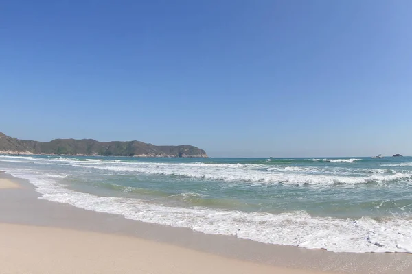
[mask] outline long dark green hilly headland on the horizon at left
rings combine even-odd
[[[135,157],[207,157],[190,145],[155,146],[145,142],[98,142],[93,139],[19,140],[0,132],[0,154],[101,155]]]

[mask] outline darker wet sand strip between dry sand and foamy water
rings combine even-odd
[[[167,227],[124,219],[123,216],[93,212],[37,199],[29,182],[0,173],[21,188],[0,190],[0,223],[55,227],[59,229],[93,232],[106,236],[127,236],[194,252],[214,254],[227,260],[251,262],[288,271],[305,270],[334,273],[410,273],[412,256],[406,253],[332,253],[299,247],[268,245],[235,236],[221,236],[194,232],[191,229]],[[7,192],[7,193],[5,193]],[[69,233],[69,232],[67,232]],[[396,267],[395,267],[396,266]],[[371,271],[373,269],[373,271]],[[391,271],[388,272],[388,270]],[[260,273],[260,272],[259,272]],[[276,273],[276,272],[275,272]],[[286,273],[286,272],[280,272]],[[292,272],[293,273],[293,272]],[[299,273],[299,272],[297,272]]]

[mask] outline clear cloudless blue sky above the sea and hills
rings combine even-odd
[[[0,131],[412,155],[412,1],[1,1]]]

